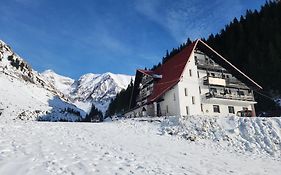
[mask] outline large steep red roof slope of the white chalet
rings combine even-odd
[[[162,66],[153,71],[154,74],[162,75],[162,78],[155,82],[153,92],[149,96],[148,101],[153,102],[157,100],[179,82],[185,65],[197,42],[195,41],[189,44],[181,52],[174,55],[173,58],[167,60]]]

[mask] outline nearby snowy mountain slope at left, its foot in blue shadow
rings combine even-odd
[[[85,112],[0,40],[0,119],[70,120]]]

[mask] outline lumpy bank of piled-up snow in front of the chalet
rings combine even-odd
[[[267,153],[281,157],[281,118],[166,117],[162,134],[191,141],[212,140],[239,152]]]

